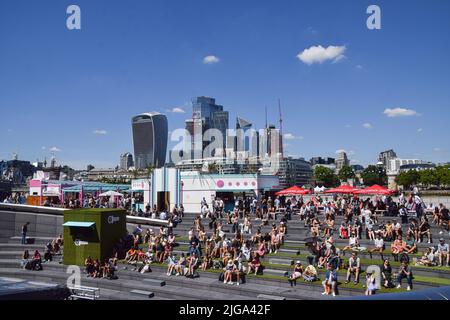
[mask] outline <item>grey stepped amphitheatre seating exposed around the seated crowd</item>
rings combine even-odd
[[[186,252],[188,248],[187,233],[193,227],[194,218],[198,214],[186,213],[183,221],[174,228],[177,234],[177,242],[179,246],[175,248],[177,253]],[[280,215],[281,216],[281,215]],[[145,220],[148,218],[131,217],[132,221],[128,221],[128,226],[135,227],[141,224],[145,229]],[[379,216],[380,221],[387,221],[399,218]],[[155,223],[161,222],[159,219]],[[279,220],[279,219],[277,219]],[[222,219],[225,229],[231,229],[226,225],[225,219]],[[342,221],[342,217],[336,218],[336,229]],[[148,221],[153,223],[153,221]],[[162,225],[164,225],[162,221]],[[203,219],[202,223],[205,226],[208,234],[209,219]],[[239,219],[242,223],[242,219]],[[256,231],[256,226],[260,222],[253,219],[253,230]],[[262,232],[269,232],[272,221],[269,221],[269,226],[262,227]],[[148,224],[152,225],[152,224]],[[405,228],[406,226],[404,226]],[[81,284],[86,287],[98,288],[100,290],[100,299],[327,299],[320,293],[323,291],[320,281],[313,283],[297,281],[297,286],[291,288],[285,277],[286,273],[290,273],[293,269],[293,262],[300,260],[304,265],[307,264],[307,257],[310,255],[308,248],[305,246],[305,239],[310,236],[308,228],[304,226],[302,221],[299,221],[298,216],[292,215],[292,220],[287,223],[287,235],[284,245],[281,246],[277,254],[266,254],[262,259],[262,264],[265,266],[264,274],[262,276],[255,276],[250,274],[246,277],[246,284],[237,286],[224,285],[219,282],[219,274],[222,270],[207,270],[203,272],[198,270],[200,278],[189,279],[186,277],[168,277],[166,276],[167,266],[165,264],[152,264],[151,273],[140,274],[133,270],[133,266],[120,263],[119,270],[116,272],[117,280],[106,279],[92,279],[88,278],[84,273]],[[438,235],[439,229],[432,226],[434,236],[434,244],[437,244],[437,239],[441,237]],[[337,232],[335,232],[335,235]],[[34,236],[34,235],[33,235]],[[56,236],[56,235],[55,235]],[[231,233],[227,236],[232,237]],[[249,239],[250,235],[244,235]],[[448,233],[442,235],[445,239],[450,239]],[[45,244],[50,241],[51,237],[40,237],[39,234],[34,236],[35,243],[29,245],[21,245],[21,237],[17,235],[9,237],[6,241],[0,243],[0,276],[25,278],[33,281],[50,281],[54,283],[64,284],[67,280],[66,266],[60,264],[59,257],[55,257],[56,261],[43,263],[43,271],[29,271],[23,270],[19,266],[19,260],[23,250],[28,249],[30,253],[32,250],[42,250]],[[348,240],[341,240],[335,238],[335,242],[339,248],[343,248],[348,244]],[[365,247],[372,247],[372,244],[363,236],[361,245]],[[386,243],[387,250],[385,257],[391,258],[389,251],[389,243]],[[419,244],[419,251],[429,247],[427,243]],[[361,274],[361,281],[359,285],[343,284],[345,279],[345,270],[338,272],[339,278],[339,295],[341,296],[360,296],[364,294],[363,288],[365,274],[364,270],[369,265],[380,265],[381,256],[378,253],[373,254],[373,259],[365,252],[360,252],[361,266],[363,273]],[[350,254],[345,255],[348,259]],[[410,258],[415,257],[411,255]],[[392,262],[394,272],[398,269],[398,263]],[[412,265],[414,279],[414,290],[421,288],[432,288],[435,286],[450,285],[450,268],[435,268],[435,267],[419,267]],[[323,278],[325,270],[317,269],[319,278]],[[83,271],[84,272],[84,271]],[[397,289],[381,290],[383,292],[399,292]]]

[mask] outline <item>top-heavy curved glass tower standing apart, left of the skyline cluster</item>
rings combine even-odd
[[[131,119],[134,161],[137,169],[160,168],[166,163],[167,117],[158,112],[142,113]]]

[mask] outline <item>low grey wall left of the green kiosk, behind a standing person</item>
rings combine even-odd
[[[56,237],[63,232],[63,216],[0,211],[0,238],[20,236],[26,222],[30,222],[29,237]]]

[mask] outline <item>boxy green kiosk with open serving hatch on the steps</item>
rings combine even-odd
[[[64,212],[64,264],[84,265],[88,256],[104,261],[127,233],[126,211],[79,209]]]

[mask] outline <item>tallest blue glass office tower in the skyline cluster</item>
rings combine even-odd
[[[214,98],[196,97],[192,99],[192,119],[186,120],[186,130],[192,137],[194,158],[203,157],[203,150],[209,142],[203,141],[201,137],[208,129],[217,129],[221,132],[222,142],[220,144],[222,150],[225,150],[228,117],[228,111],[223,111],[223,106],[217,105]],[[199,150],[201,150],[201,154]]]

